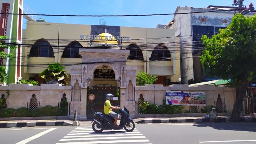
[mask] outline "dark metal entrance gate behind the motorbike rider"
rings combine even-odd
[[[106,94],[113,94],[116,96],[116,92],[119,87],[109,84],[98,84],[87,88],[87,106],[86,115],[87,119],[93,119],[93,112],[103,112],[104,103],[106,101]],[[89,95],[94,94],[94,98],[90,98]],[[120,105],[120,100],[111,101],[113,106]]]

